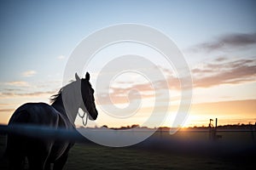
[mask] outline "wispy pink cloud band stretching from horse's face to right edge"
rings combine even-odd
[[[111,87],[107,90],[109,93],[97,94],[97,97],[101,98],[101,105],[112,105],[111,102],[115,104],[128,103],[128,99],[130,99],[131,102],[131,100],[134,99],[154,98],[154,92],[166,88],[166,82],[168,84],[167,88],[180,90],[178,77],[172,76],[172,71],[169,72],[170,74],[166,80],[155,82],[157,85],[155,89],[150,82],[133,84],[128,88],[124,88],[125,86],[121,84],[114,88]],[[192,69],[192,76],[194,77],[194,88],[211,88],[222,84],[253,82],[256,81],[256,58],[229,60],[222,57],[214,59],[209,63],[201,64]],[[140,95],[134,93],[134,91],[132,91],[134,89],[136,89]],[[158,94],[161,95],[160,93]]]

